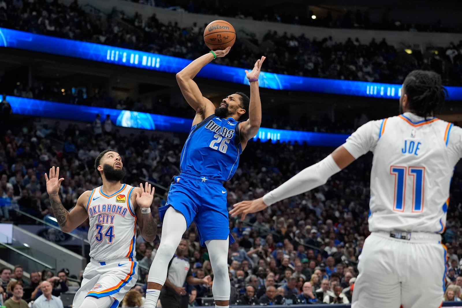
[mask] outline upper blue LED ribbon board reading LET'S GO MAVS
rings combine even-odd
[[[179,72],[191,62],[191,60],[162,54],[152,54],[90,42],[78,42],[5,28],[0,28],[0,47],[18,48],[170,73]],[[237,84],[249,84],[249,81],[245,78],[244,68],[213,63],[205,66],[197,76]],[[401,85],[310,78],[270,72],[261,72],[259,81],[261,87],[275,90],[307,91],[389,99],[398,99],[401,94]],[[447,87],[447,89],[451,100],[462,100],[462,87]]]

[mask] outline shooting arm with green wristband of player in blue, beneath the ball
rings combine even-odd
[[[225,50],[216,50],[214,54],[216,57],[224,57],[230,51],[231,47],[226,48]],[[192,61],[185,68],[176,74],[176,81],[180,86],[180,90],[183,94],[183,97],[186,99],[188,104],[196,111],[195,121],[193,125],[197,124],[196,120],[202,121],[207,116],[213,114],[215,111],[215,106],[213,103],[202,96],[201,91],[197,84],[193,81],[196,74],[206,66],[210,61],[212,61],[215,56],[209,52],[204,54],[196,60]],[[197,118],[197,119],[196,119]]]

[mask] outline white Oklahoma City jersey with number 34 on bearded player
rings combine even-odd
[[[97,261],[134,257],[136,215],[130,203],[134,187],[122,184],[112,195],[104,194],[101,187],[93,189],[86,207],[90,257]]]

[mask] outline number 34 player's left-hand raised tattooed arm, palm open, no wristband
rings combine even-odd
[[[79,199],[77,199],[77,204],[69,212],[64,208],[59,198],[59,189],[63,180],[64,178],[59,178],[59,167],[57,167],[55,171],[55,166],[53,166],[50,168],[49,175],[45,174],[47,193],[50,196],[51,207],[55,214],[55,218],[63,232],[71,232],[88,218],[85,206],[88,203],[91,191],[87,190],[85,193],[82,193]]]

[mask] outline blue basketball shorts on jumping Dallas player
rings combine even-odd
[[[170,206],[183,214],[187,227],[194,221],[201,245],[208,240],[234,242],[226,209],[227,192],[220,181],[204,176],[180,173],[172,179],[167,202],[159,208],[160,221]]]

